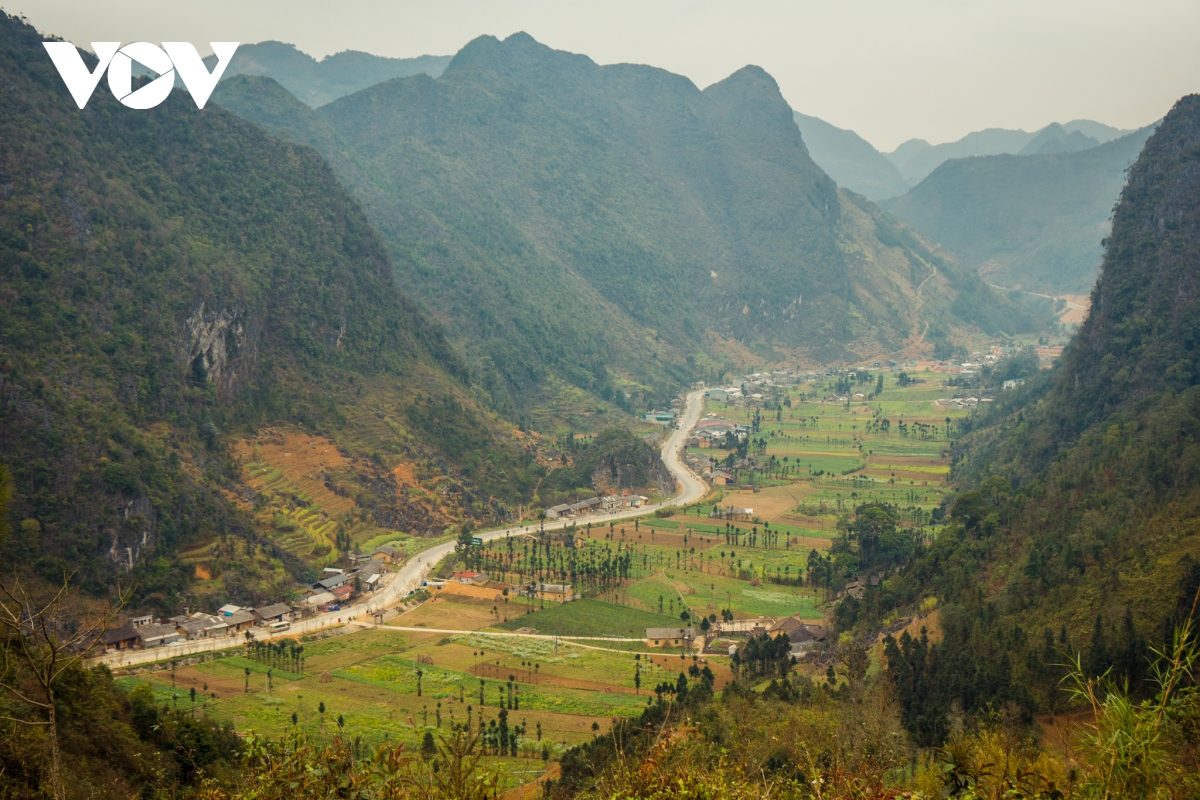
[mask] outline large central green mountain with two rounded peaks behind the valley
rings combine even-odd
[[[610,373],[636,391],[1036,324],[916,237],[883,242],[757,67],[701,91],[517,34],[307,118],[270,92],[236,78],[216,101],[330,155],[502,407],[551,377],[613,397]]]

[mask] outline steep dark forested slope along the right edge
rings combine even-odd
[[[910,730],[952,704],[1061,702],[1062,666],[1142,691],[1148,645],[1200,590],[1200,96],[1146,142],[1092,309],[1058,366],[997,398],[956,446],[950,524],[871,594],[936,594],[944,638],[889,652]]]

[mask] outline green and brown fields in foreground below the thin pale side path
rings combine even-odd
[[[496,718],[502,694],[505,703],[509,698],[508,678],[512,675],[509,724],[524,730],[522,754],[536,758],[488,760],[516,784],[528,780],[521,777],[528,770],[544,768],[544,744],[558,753],[590,738],[593,723],[607,728],[613,717],[637,714],[646,704],[647,685],[674,680],[679,668],[690,664],[668,664],[655,654],[661,662],[656,666],[648,661],[649,655],[643,656],[647,661],[642,662],[638,692],[632,652],[569,643],[556,649],[551,640],[410,634],[384,627],[305,642],[304,646],[306,674],[287,675],[289,679],[276,672],[268,681],[257,669],[263,664],[226,656],[174,672],[142,672],[120,681],[126,687],[149,684],[161,703],[181,709],[192,708],[190,690],[194,687],[197,714],[228,721],[241,732],[276,736],[299,728],[318,740],[343,735],[359,738],[364,746],[390,741],[416,747],[425,730],[445,729],[451,722],[464,722],[468,715],[475,723],[480,714],[485,720]],[[532,670],[533,661],[536,672]]]

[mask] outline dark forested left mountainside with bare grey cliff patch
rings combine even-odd
[[[400,432],[352,450],[370,469],[442,464],[462,489],[450,516],[528,497],[532,456],[470,402],[317,152],[180,92],[131,110],[102,89],[80,112],[42,36],[7,16],[0,83],[0,458],[19,523],[5,563],[65,561],[92,585],[134,570],[170,608],[192,578],[181,547],[257,541],[230,435],[361,441],[367,402]]]

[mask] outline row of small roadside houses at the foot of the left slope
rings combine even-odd
[[[160,648],[180,642],[235,637],[259,628],[266,633],[287,630],[290,620],[304,619],[326,610],[338,610],[356,593],[370,593],[382,587],[386,565],[403,559],[403,553],[384,545],[370,555],[353,555],[352,567],[326,567],[323,577],[313,583],[294,603],[275,602],[258,608],[242,608],[227,603],[215,614],[193,612],[156,620],[152,614],[133,616],[121,627],[106,631],[97,643],[97,652]]]

